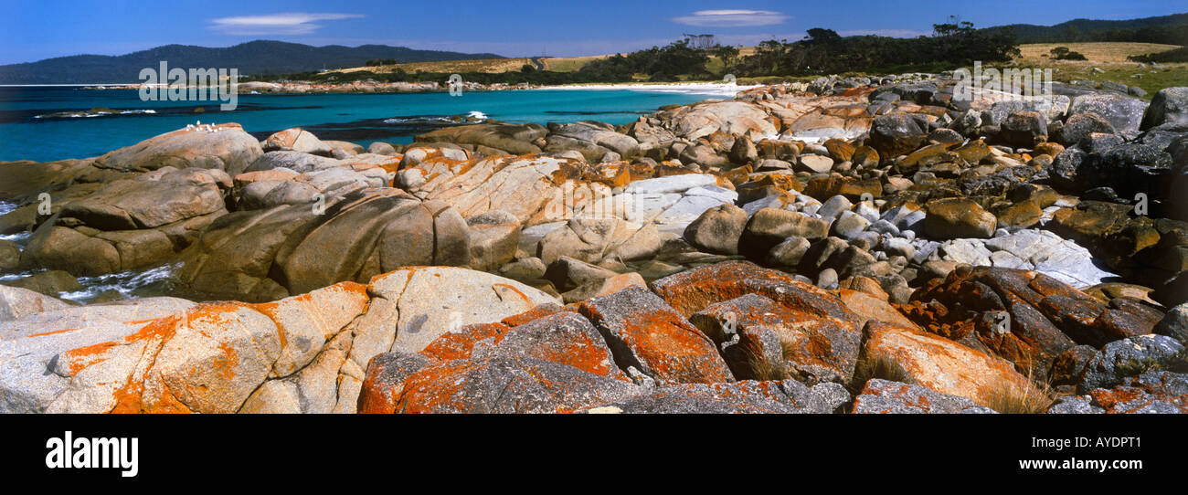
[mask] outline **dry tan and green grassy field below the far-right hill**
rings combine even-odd
[[[1087,61],[1054,61],[1047,55],[1056,46],[1079,52]],[[1162,64],[1159,69],[1126,61],[1131,55],[1157,53],[1175,45],[1151,43],[1037,43],[1020,45],[1019,66],[1053,69],[1056,81],[1113,81],[1143,88],[1150,99],[1163,88],[1188,85],[1188,64]],[[1094,71],[1099,69],[1101,72]]]

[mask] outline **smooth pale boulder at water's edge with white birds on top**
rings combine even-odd
[[[244,172],[263,154],[260,141],[238,123],[188,127],[126,146],[95,159],[95,166],[119,171],[219,169],[232,176]]]

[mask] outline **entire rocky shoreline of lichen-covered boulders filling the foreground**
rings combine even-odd
[[[5,164],[0,411],[1188,412],[1188,88],[947,76]]]

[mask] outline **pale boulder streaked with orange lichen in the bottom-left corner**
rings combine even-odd
[[[347,284],[270,305],[200,304],[148,322],[102,318],[63,331],[46,324],[40,334],[0,342],[0,407],[229,413],[283,383],[295,385],[290,404],[298,394],[318,404],[326,395],[315,388],[327,383],[309,377],[326,357],[320,342],[337,338],[366,306],[365,287]],[[30,374],[30,367],[52,373]],[[334,372],[323,379],[333,383]],[[333,401],[318,405],[329,412]]]

